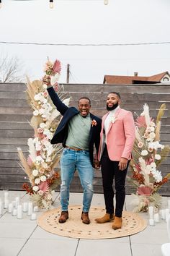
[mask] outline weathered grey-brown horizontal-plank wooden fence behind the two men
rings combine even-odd
[[[103,116],[106,113],[107,93],[116,91],[121,95],[121,107],[136,114],[143,111],[148,103],[151,116],[156,117],[158,108],[166,103],[165,115],[161,124],[161,143],[170,145],[170,85],[86,85],[63,84],[71,97],[70,106],[77,106],[82,96],[91,99],[91,113]],[[19,167],[17,147],[27,155],[27,139],[33,136],[29,121],[32,110],[26,101],[26,85],[0,83],[0,189],[22,189],[27,176]],[[136,113],[136,114],[135,114]],[[162,174],[170,172],[170,156],[161,165]],[[130,171],[129,171],[130,174]],[[71,184],[72,192],[81,192],[79,176],[75,173]],[[127,182],[127,193],[133,186]],[[94,171],[94,192],[102,192],[101,171]],[[162,195],[170,195],[169,183],[161,188]]]

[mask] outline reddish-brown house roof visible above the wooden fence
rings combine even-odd
[[[104,75],[103,83],[107,84],[134,84],[143,82],[160,82],[165,74],[169,74],[169,72],[163,72],[161,74],[155,74],[151,77],[139,77],[139,76],[121,76],[121,75]]]

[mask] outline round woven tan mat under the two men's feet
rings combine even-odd
[[[122,214],[122,229],[112,229],[112,222],[96,223],[95,218],[104,216],[105,209],[91,207],[89,218],[91,223],[86,225],[81,221],[82,207],[79,205],[70,206],[68,209],[69,218],[65,223],[59,223],[61,208],[48,210],[42,213],[37,219],[37,224],[45,231],[59,236],[68,236],[81,239],[108,239],[122,236],[130,236],[146,229],[146,220],[136,213],[124,211]]]

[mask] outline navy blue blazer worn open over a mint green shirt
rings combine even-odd
[[[50,95],[51,100],[53,101],[53,104],[56,106],[57,110],[61,113],[63,118],[61,119],[60,124],[58,124],[58,127],[55,131],[55,134],[50,141],[51,144],[57,144],[62,143],[63,147],[66,147],[66,139],[68,136],[68,121],[71,120],[71,118],[77,114],[79,114],[79,110],[75,107],[66,106],[58,97],[57,93],[55,93],[55,90],[53,87],[48,88],[48,93]],[[91,120],[96,120],[97,125],[92,126],[90,129],[89,134],[89,155],[90,155],[90,161],[93,166],[94,163],[94,145],[97,150],[97,154],[99,151],[99,140],[100,140],[100,131],[102,127],[102,119],[100,119],[97,116],[94,116],[90,113]]]

